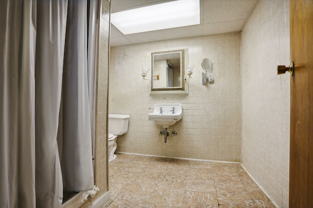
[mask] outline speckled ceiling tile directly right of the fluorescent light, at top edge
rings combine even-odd
[[[257,0],[203,0],[203,24],[247,19]]]

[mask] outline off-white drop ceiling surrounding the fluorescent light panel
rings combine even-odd
[[[112,13],[171,0],[111,0]],[[201,25],[130,34],[114,26],[111,46],[190,38],[241,31],[258,0],[201,0]]]

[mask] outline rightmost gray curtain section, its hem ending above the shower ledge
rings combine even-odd
[[[66,40],[71,41],[65,43],[63,111],[60,113],[63,117],[61,167],[65,190],[86,191],[93,188],[87,67],[87,0],[68,0],[68,12]]]

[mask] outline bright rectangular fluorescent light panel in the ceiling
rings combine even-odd
[[[124,35],[200,24],[199,0],[174,0],[111,14]]]

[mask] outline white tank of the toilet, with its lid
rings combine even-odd
[[[122,135],[128,131],[129,115],[127,114],[109,114],[109,133]]]

